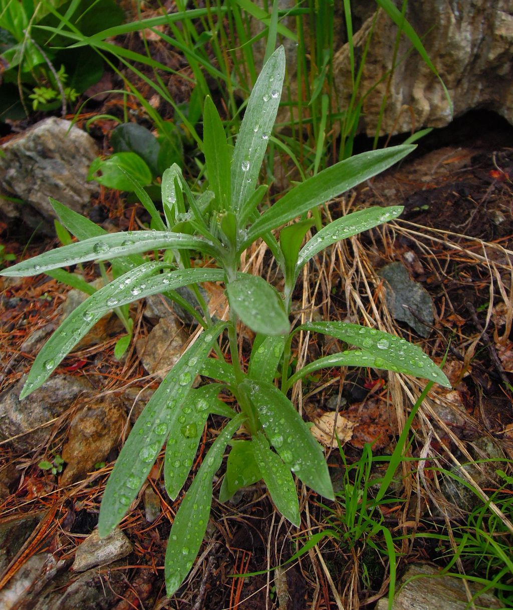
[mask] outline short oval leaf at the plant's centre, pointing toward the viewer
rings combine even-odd
[[[226,293],[230,307],[251,330],[273,336],[288,334],[289,318],[278,293],[265,279],[238,273]]]

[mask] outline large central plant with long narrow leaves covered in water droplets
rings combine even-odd
[[[414,146],[367,152],[337,163],[297,185],[260,214],[257,206],[266,187],[257,187],[257,179],[278,110],[284,71],[284,50],[280,47],[257,79],[233,151],[213,102],[206,99],[202,146],[209,190],[192,193],[179,168],[173,165],[162,178],[163,220],[148,195],[134,182],[135,192],[151,213],[154,231],[106,234],[54,202],[62,223],[83,241],[3,272],[10,276],[35,275],[87,260],[112,260],[119,271],[112,282],[77,307],[43,346],[30,369],[21,399],[48,379],[63,357],[109,309],[183,285],[195,286],[203,281],[226,285],[229,320],[212,323],[204,307],[204,319],[200,318],[204,332],[174,365],[135,423],[110,475],[100,510],[99,533],[106,536],[137,497],[164,443],[165,486],[172,499],[178,497],[207,416],[213,413],[229,418],[174,518],[165,561],[169,595],[187,576],[198,553],[209,519],[212,479],[230,442],[221,499],[226,500],[239,487],[263,478],[276,507],[299,526],[292,472],[320,495],[334,498],[323,451],[287,398],[288,390],[298,379],[320,368],[371,366],[450,385],[420,348],[386,332],[342,322],[307,323],[290,332],[292,292],[307,261],[340,239],[397,217],[402,208],[359,210],[328,224],[301,248],[312,225],[307,212],[390,167]],[[129,178],[129,174],[126,176]],[[274,237],[271,231],[298,217],[302,220],[281,229],[279,240]],[[241,254],[260,238],[267,243],[284,275],[282,295],[263,278],[240,271]],[[145,262],[140,256],[159,249],[165,249],[162,259]],[[212,257],[218,267],[190,268],[190,250]],[[257,333],[247,371],[239,359],[238,319]],[[289,376],[292,339],[300,330],[328,334],[357,349],[323,357]],[[231,362],[224,359],[217,343],[224,331],[228,334]],[[209,356],[212,348],[217,351],[215,358]],[[274,379],[280,369],[278,388]],[[193,389],[198,374],[220,382]],[[239,413],[218,398],[221,390],[234,395]],[[231,441],[242,425],[251,440]]]

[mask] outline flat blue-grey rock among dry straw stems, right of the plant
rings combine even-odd
[[[433,323],[433,304],[429,292],[410,279],[402,263],[390,263],[379,270],[379,276],[387,282],[387,307],[396,319],[406,322],[421,337],[429,337]],[[415,315],[414,315],[415,314]],[[419,319],[420,318],[420,319]]]

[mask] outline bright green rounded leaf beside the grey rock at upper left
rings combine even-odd
[[[127,173],[134,176],[140,184],[151,184],[151,171],[135,152],[116,152],[104,160],[97,157],[91,163],[87,179],[96,180],[104,187],[131,191],[133,182],[127,179]]]

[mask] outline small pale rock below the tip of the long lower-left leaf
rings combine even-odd
[[[131,552],[132,545],[120,528],[115,528],[102,540],[98,529],[95,529],[77,548],[71,569],[74,572],[85,572],[98,565],[112,564],[113,561],[123,559]]]

